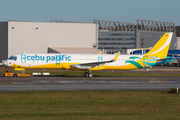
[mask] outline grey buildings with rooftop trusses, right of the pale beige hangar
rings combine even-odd
[[[98,49],[112,54],[127,49],[149,48],[165,32],[173,32],[170,50],[177,49],[175,23],[137,20],[134,23],[94,20],[98,24]]]

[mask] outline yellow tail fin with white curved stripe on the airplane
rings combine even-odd
[[[161,39],[154,45],[154,47],[144,56],[155,56],[161,59],[166,58],[169,51],[172,35],[172,32],[165,33],[161,37]]]

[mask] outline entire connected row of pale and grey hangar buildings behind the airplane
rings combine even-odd
[[[0,22],[0,59],[24,52],[126,53],[127,49],[154,46],[165,32],[174,33],[170,49],[179,49],[175,23],[170,22],[148,20],[137,20],[136,24],[103,20],[94,20],[93,23],[60,20]]]

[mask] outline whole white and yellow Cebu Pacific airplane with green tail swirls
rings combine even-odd
[[[93,77],[93,70],[133,70],[149,68],[164,63],[172,39],[172,32],[165,33],[145,55],[117,54],[60,54],[22,53],[3,61],[5,67],[25,69],[69,69],[84,70],[85,77]]]

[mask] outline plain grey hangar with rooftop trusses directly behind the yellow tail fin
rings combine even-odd
[[[173,32],[170,50],[177,50],[175,23],[150,20],[136,21],[136,48],[154,46],[165,32]]]

